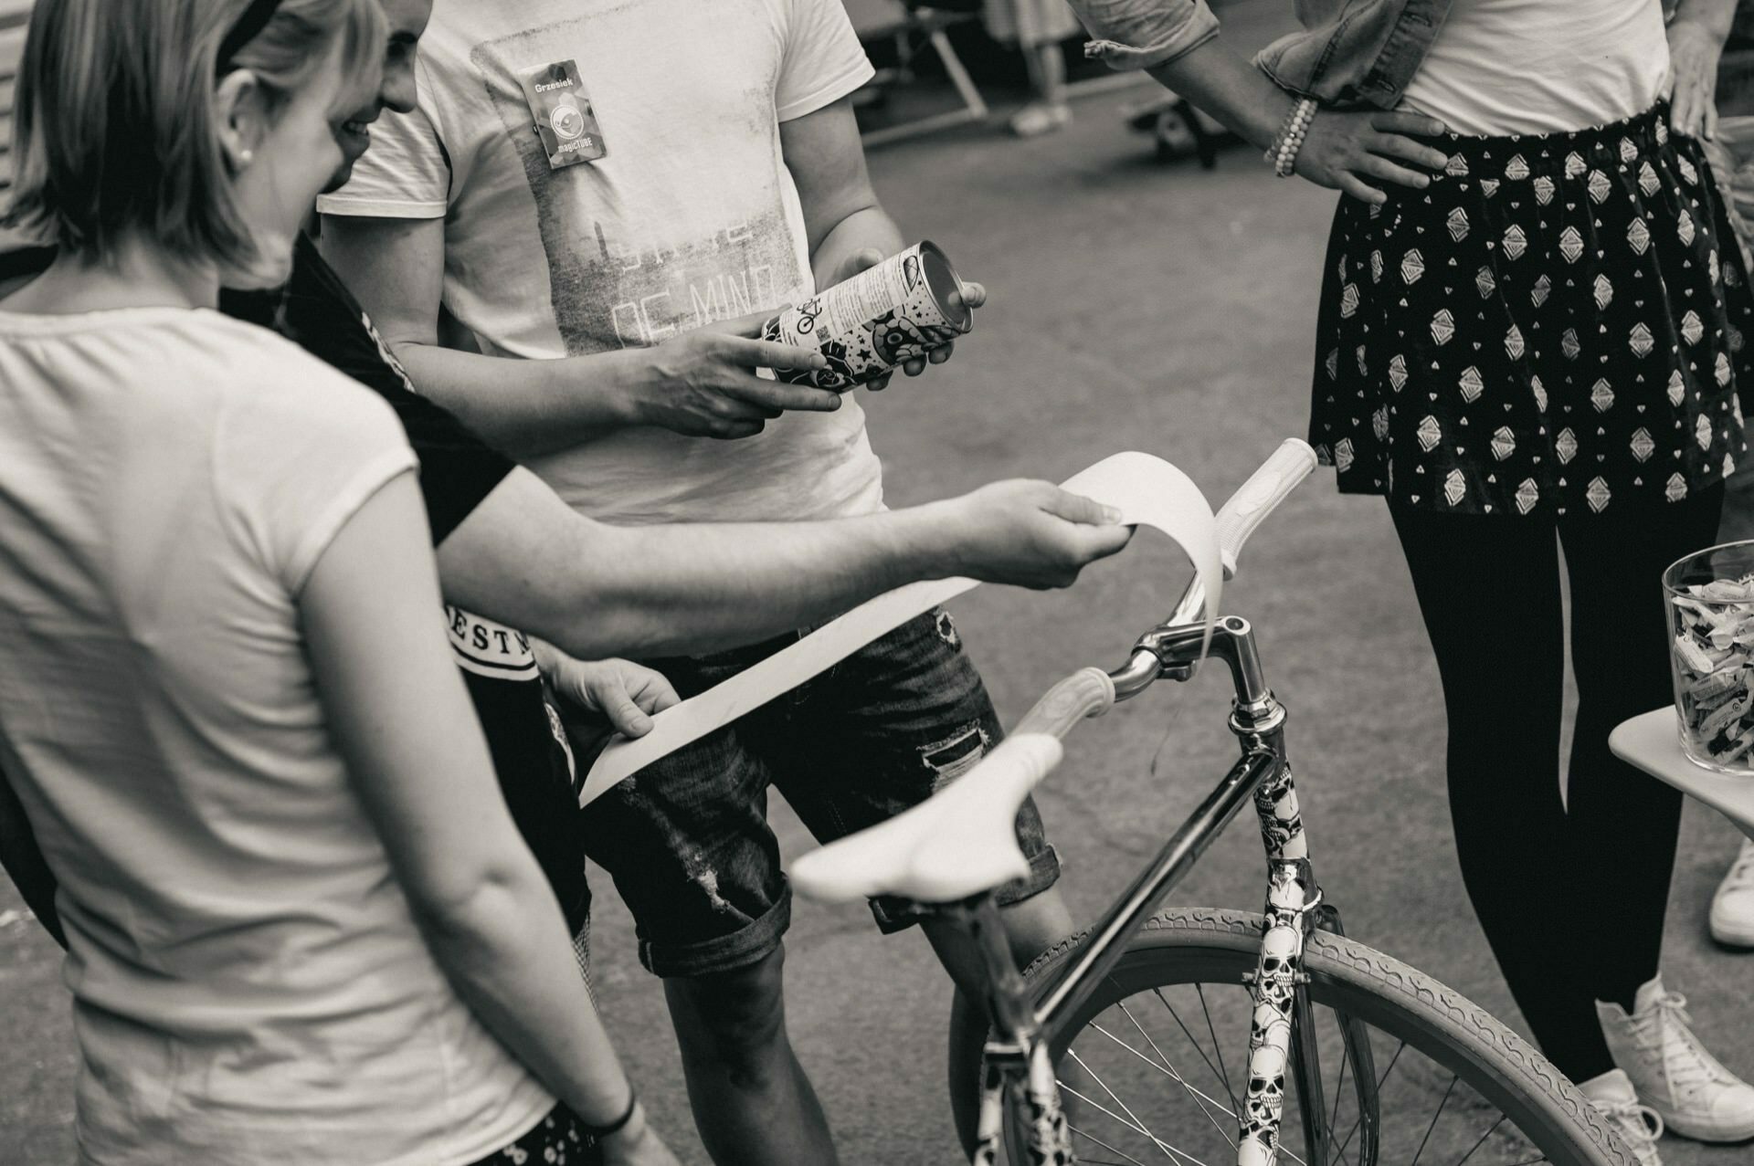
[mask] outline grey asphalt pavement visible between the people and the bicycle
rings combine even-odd
[[[1121,449],[1182,466],[1214,500],[1284,437],[1301,435],[1314,289],[1335,196],[1275,181],[1249,149],[1212,172],[1161,167],[1117,107],[1080,102],[1058,135],[970,128],[872,154],[884,203],[991,293],[945,368],[861,393],[888,496],[907,505],[998,477],[1065,479]],[[1166,614],[1187,568],[1140,535],[1065,593],[982,587],[952,605],[995,701],[1014,721],[1056,679],[1119,665]],[[1493,596],[1482,594],[1489,605]],[[1326,475],[1251,544],[1228,610],[1256,621],[1291,708],[1314,859],[1349,933],[1521,1024],[1463,898],[1444,798],[1444,722],[1387,512]],[[1658,607],[1652,594],[1651,617]],[[1230,764],[1228,684],[1163,687],[1091,722],[1040,793],[1065,892],[1093,919]],[[831,780],[831,773],[823,775]],[[774,798],[784,852],[810,840]],[[1665,952],[1701,1033],[1754,1077],[1754,956],[1705,935],[1736,835],[1689,808]],[[1514,857],[1514,856],[1512,856]],[[595,873],[595,978],[609,1027],[686,1162],[693,1143],[660,984]],[[1173,901],[1258,908],[1256,831],[1230,831]],[[1612,928],[1612,905],[1600,912]],[[75,1075],[56,950],[0,887],[0,1161],[70,1161]],[[942,1091],[949,987],[917,935],[881,938],[863,908],[800,903],[788,940],[789,1029],[847,1162],[954,1159]],[[1565,957],[1556,952],[1556,957]],[[1749,1147],[1668,1138],[1670,1166],[1731,1166]]]

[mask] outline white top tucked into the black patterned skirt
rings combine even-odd
[[[1661,0],[1456,0],[1401,105],[1454,133],[1568,133],[1642,114],[1666,79]]]

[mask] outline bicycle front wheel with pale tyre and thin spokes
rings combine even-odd
[[[1080,1162],[1237,1161],[1247,978],[1261,929],[1249,912],[1182,908],[1151,919],[1056,1036]],[[1037,959],[1035,991],[1077,947],[1068,940]],[[1303,970],[1314,1031],[1296,1034],[1294,1054],[1314,1059],[1323,1098],[1305,1106],[1296,1075],[1287,1077],[1280,1164],[1308,1166],[1326,1145],[1330,1166],[1633,1166],[1582,1094],[1459,992],[1328,933],[1310,936]],[[1012,1152],[1010,1161],[1021,1159]]]

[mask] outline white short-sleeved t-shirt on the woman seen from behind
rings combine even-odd
[[[412,468],[265,330],[0,312],[0,771],[60,880],[81,1161],[470,1162],[553,1105],[433,963],[300,635]]]

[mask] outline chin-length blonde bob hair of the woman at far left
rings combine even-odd
[[[86,261],[105,261],[142,233],[221,268],[254,267],[214,109],[219,42],[247,4],[37,0],[18,75],[5,224]],[[333,109],[353,109],[379,84],[377,0],[282,0],[228,68],[256,75],[272,114],[337,42]]]

